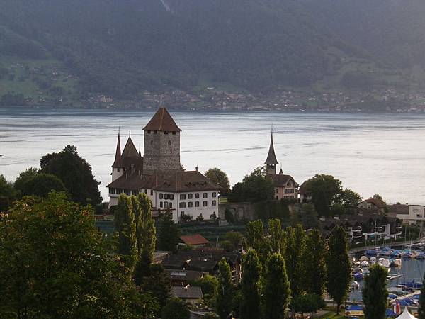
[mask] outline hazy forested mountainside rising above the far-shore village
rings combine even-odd
[[[419,0],[0,0],[0,7],[0,81],[24,95],[28,86],[67,99],[134,99],[209,84],[270,91],[423,81]],[[29,67],[15,72],[13,57]]]

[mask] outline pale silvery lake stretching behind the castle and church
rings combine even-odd
[[[0,108],[0,174],[13,181],[40,157],[76,145],[93,167],[103,198],[111,180],[118,127],[143,147],[152,111]],[[181,163],[200,172],[220,167],[232,184],[263,165],[273,125],[285,174],[301,184],[332,174],[344,188],[388,203],[425,204],[425,115],[171,111],[181,133]],[[143,149],[142,149],[143,152]]]

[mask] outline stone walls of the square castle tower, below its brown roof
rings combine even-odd
[[[180,133],[145,131],[143,174],[181,169]]]

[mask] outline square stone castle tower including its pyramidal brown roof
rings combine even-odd
[[[181,169],[181,129],[164,106],[158,109],[143,130],[145,131],[143,174]]]

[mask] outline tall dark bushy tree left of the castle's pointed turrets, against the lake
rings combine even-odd
[[[77,147],[68,145],[61,152],[47,154],[40,159],[41,172],[59,177],[72,201],[96,206],[101,203],[100,184],[91,172],[91,166],[78,155]]]

